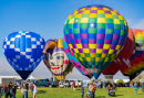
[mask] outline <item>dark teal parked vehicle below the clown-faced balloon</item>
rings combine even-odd
[[[51,81],[49,79],[40,79],[40,80],[35,80],[37,86],[47,86],[47,87],[55,87],[55,83]]]

